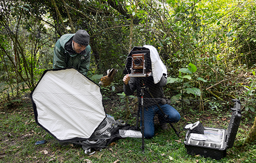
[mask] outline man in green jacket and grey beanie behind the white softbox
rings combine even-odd
[[[54,69],[74,67],[83,75],[87,75],[90,67],[90,36],[84,30],[75,34],[63,35],[54,47]]]

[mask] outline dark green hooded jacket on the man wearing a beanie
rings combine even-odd
[[[86,46],[81,53],[76,53],[72,48],[74,34],[63,35],[54,47],[54,69],[74,67],[86,76],[91,59],[91,46]]]

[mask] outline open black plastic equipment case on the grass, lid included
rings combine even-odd
[[[200,155],[215,160],[221,160],[226,156],[227,148],[232,148],[234,145],[242,118],[240,101],[233,100],[233,102],[235,105],[231,108],[232,117],[228,129],[203,127],[204,134],[192,133],[192,129],[188,129],[184,143],[189,155]],[[194,128],[198,124],[200,123],[195,122],[189,128]]]

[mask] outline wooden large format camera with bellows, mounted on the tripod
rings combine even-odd
[[[129,74],[129,77],[148,77],[151,72],[150,50],[145,47],[133,47],[128,54],[124,74]]]

